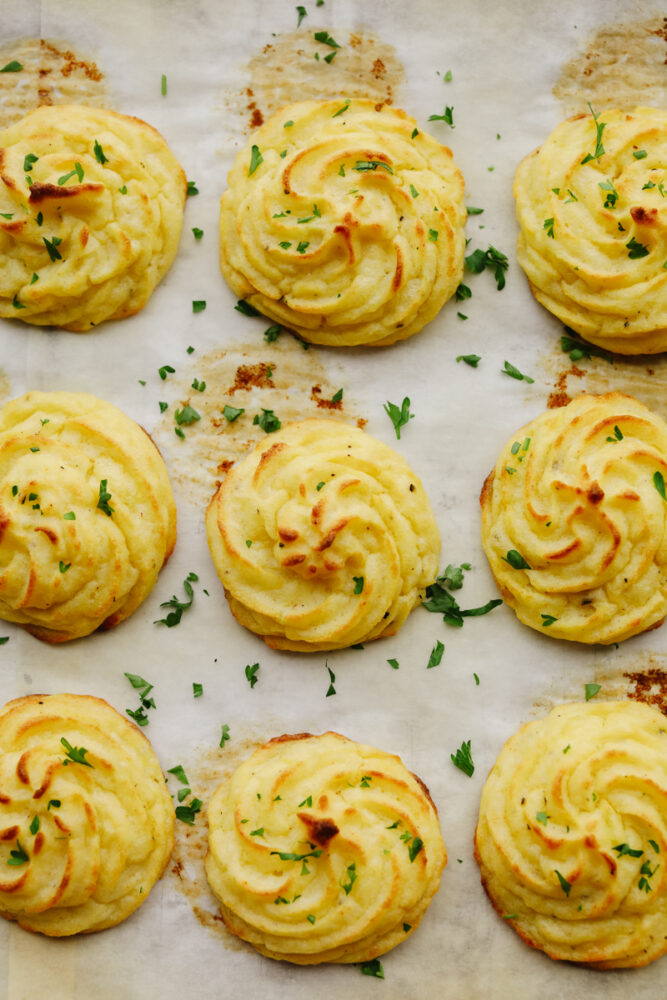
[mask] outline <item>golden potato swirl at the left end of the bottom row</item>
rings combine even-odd
[[[173,839],[151,745],[105,701],[30,695],[0,711],[0,915],[51,937],[113,927]]]

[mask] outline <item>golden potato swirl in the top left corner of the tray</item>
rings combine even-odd
[[[42,107],[0,132],[0,316],[87,332],[168,271],[185,174],[139,118]]]

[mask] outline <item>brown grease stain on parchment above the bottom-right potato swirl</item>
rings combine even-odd
[[[664,636],[665,628],[657,634]],[[667,715],[667,653],[632,653],[609,646],[592,663],[582,666],[579,677],[571,673],[555,676],[550,689],[534,702],[531,718],[542,718],[556,705],[584,701],[587,684],[600,685],[594,695],[599,701],[630,698]]]

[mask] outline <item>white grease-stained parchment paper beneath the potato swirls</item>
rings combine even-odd
[[[361,975],[356,966],[296,968],[236,943],[215,919],[201,866],[205,822],[200,815],[192,830],[177,823],[178,842],[167,873],[140,910],[117,928],[54,941],[3,923],[0,996],[662,997],[667,959],[646,969],[600,973],[554,963],[527,948],[485,898],[472,837],[480,790],[504,740],[553,704],[583,699],[588,682],[603,685],[599,697],[625,696],[625,672],[647,664],[667,666],[665,629],[629,640],[618,650],[586,648],[523,627],[506,607],[469,619],[462,629],[448,628],[440,616],[417,609],[398,636],[362,651],[272,652],[233,621],[208,554],[203,515],[224,471],[218,466],[244,446],[211,422],[220,416],[239,364],[270,363],[276,372],[274,388],[237,390],[236,405],[250,413],[266,406],[282,419],[326,415],[311,398],[312,386],[319,384],[329,398],[342,387],[344,405],[335,415],[367,420],[367,430],[400,451],[421,476],[442,534],[442,567],[472,564],[457,596],[461,606],[473,607],[497,596],[479,541],[483,479],[512,432],[544,410],[559,378],[560,389],[570,394],[586,387],[629,388],[667,415],[667,372],[660,359],[620,362],[613,369],[594,359],[581,363],[586,375],[568,375],[570,362],[559,347],[562,328],[532,300],[516,264],[511,193],[521,157],[573,105],[585,109],[587,47],[593,52],[589,65],[596,67],[602,58],[591,32],[625,23],[626,29],[612,31],[617,59],[621,52],[614,72],[634,93],[638,63],[622,53],[624,39],[639,39],[648,69],[640,59],[635,82],[646,77],[650,86],[643,93],[654,101],[662,94],[664,103],[665,67],[659,59],[651,61],[656,47],[664,61],[664,40],[647,27],[659,24],[664,10],[629,0],[604,5],[591,0],[326,0],[321,7],[306,0],[305,6],[307,17],[295,39],[297,12],[288,0],[2,0],[0,48],[10,53],[8,59],[20,40],[41,37],[94,60],[104,79],[97,97],[90,82],[91,97],[156,126],[200,194],[188,200],[170,273],[138,316],[85,336],[0,322],[0,402],[29,389],[67,389],[115,403],[154,435],[179,507],[174,555],[128,622],[53,648],[0,623],[0,634],[10,636],[0,647],[0,693],[3,702],[32,692],[90,693],[124,711],[135,707],[136,694],[123,672],[143,675],[155,685],[157,704],[144,731],[162,766],[182,764],[205,804],[222,775],[259,741],[283,732],[334,729],[399,753],[431,790],[449,864],[418,932],[383,959],[384,982]],[[336,61],[328,66],[314,59],[312,35],[322,29],[341,45],[337,61],[339,67],[345,63],[345,73]],[[267,45],[272,48],[265,51]],[[636,55],[636,48],[632,51]],[[579,70],[572,70],[574,83],[571,79],[563,91],[566,106],[553,88],[573,58],[579,59]],[[276,65],[283,66],[282,82]],[[452,79],[446,82],[448,70]],[[168,80],[164,97],[163,73]],[[451,301],[421,333],[391,348],[304,351],[287,334],[265,344],[267,323],[234,311],[234,296],[219,273],[218,203],[249,121],[257,109],[260,117],[270,110],[278,82],[277,101],[289,98],[290,89],[292,99],[299,99],[375,88],[379,99],[391,96],[421,128],[450,145],[466,179],[468,203],[484,209],[469,219],[470,249],[492,244],[508,255],[507,287],[498,292],[489,272],[468,275],[470,300]],[[595,73],[590,83],[602,86]],[[454,129],[427,123],[446,105],[454,108]],[[204,229],[200,241],[192,236],[193,226]],[[205,299],[206,310],[193,314],[193,299]],[[460,319],[457,312],[468,318]],[[194,352],[188,354],[188,346]],[[456,356],[467,353],[482,356],[478,369],[457,364]],[[534,384],[502,374],[505,360],[534,377]],[[162,382],[158,368],[164,364],[176,372]],[[194,378],[207,381],[206,392],[192,400],[208,407],[206,419],[187,428],[186,440],[180,441],[173,433],[173,408],[192,397]],[[404,396],[412,400],[415,418],[397,441],[383,403],[400,404]],[[170,404],[164,417],[159,400]],[[261,432],[248,431],[245,444],[255,439],[253,434]],[[199,582],[180,626],[153,624],[163,615],[160,602],[182,593],[190,571]],[[445,655],[438,667],[427,670],[437,639],[445,643]],[[399,661],[398,670],[391,669],[389,658]],[[260,663],[259,682],[251,690],[244,667],[254,662]],[[326,662],[336,675],[336,695],[328,698]],[[204,687],[196,700],[194,681]],[[223,723],[231,739],[220,750]],[[467,739],[475,762],[472,778],[450,761]],[[173,792],[175,786],[170,779]]]

